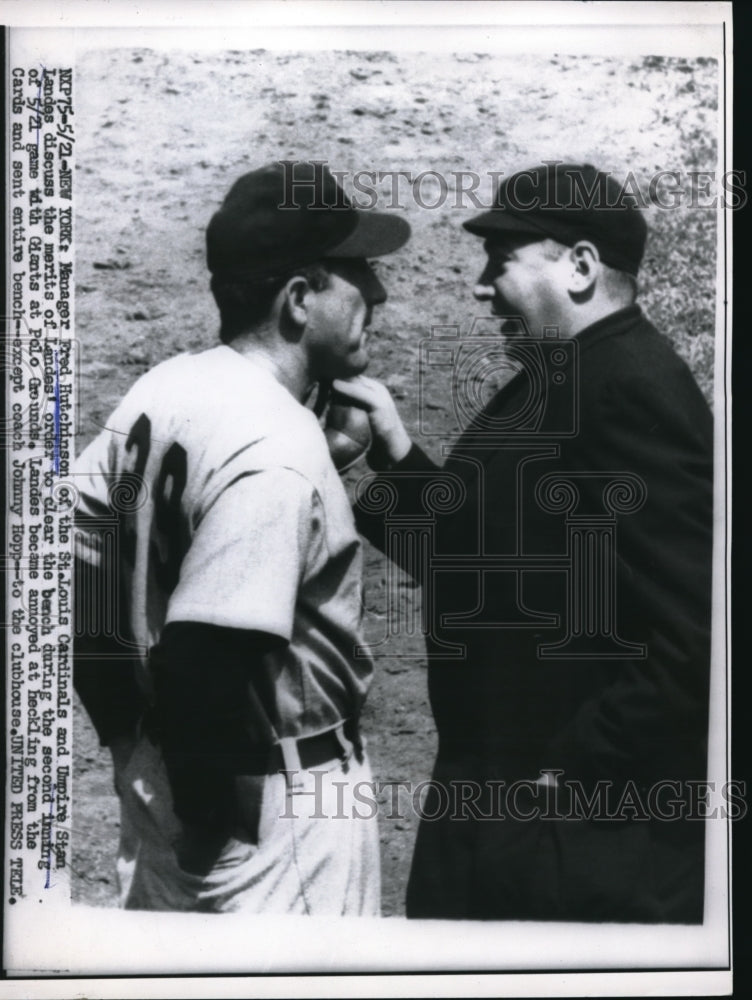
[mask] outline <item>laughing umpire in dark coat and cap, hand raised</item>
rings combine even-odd
[[[465,228],[484,240],[475,296],[516,374],[443,469],[380,383],[335,383],[368,410],[376,483],[395,498],[361,491],[372,541],[425,514],[429,482],[451,498],[408,567],[426,566],[439,736],[408,915],[700,923],[708,406],[635,303],[646,224],[613,178],[512,175]]]

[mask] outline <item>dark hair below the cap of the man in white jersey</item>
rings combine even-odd
[[[219,309],[219,339],[223,344],[247,333],[269,315],[280,289],[293,277],[303,277],[314,291],[329,284],[329,273],[322,263],[309,264],[288,274],[249,279],[239,274],[213,274],[211,291]]]

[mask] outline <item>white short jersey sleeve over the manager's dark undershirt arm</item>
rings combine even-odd
[[[167,622],[253,629],[289,641],[300,581],[320,539],[317,494],[302,475],[242,475],[203,512]]]

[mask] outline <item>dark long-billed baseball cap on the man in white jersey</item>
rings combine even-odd
[[[400,216],[355,208],[321,160],[279,160],[244,174],[206,230],[212,274],[284,276],[324,258],[381,257],[407,242]]]

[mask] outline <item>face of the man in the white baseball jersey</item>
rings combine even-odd
[[[317,380],[350,378],[368,365],[367,327],[386,291],[365,260],[325,262],[329,281],[312,292],[306,309],[304,343]]]

